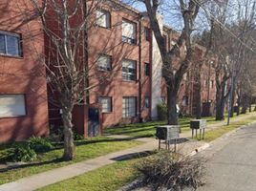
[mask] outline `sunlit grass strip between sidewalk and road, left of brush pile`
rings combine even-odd
[[[39,191],[116,191],[139,176],[134,168],[136,162],[138,159],[117,161],[73,179],[40,188]]]

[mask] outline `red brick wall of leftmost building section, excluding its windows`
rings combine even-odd
[[[37,20],[25,21],[32,11],[27,1],[2,0],[0,30],[17,32],[22,36],[23,57],[0,55],[0,94],[24,94],[25,117],[0,118],[0,142],[21,140],[32,135],[47,136],[48,106],[45,69],[38,54],[44,53],[43,32]],[[28,1],[29,2],[29,1]]]

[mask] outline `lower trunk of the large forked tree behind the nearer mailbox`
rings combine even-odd
[[[167,86],[168,125],[178,125],[177,93]]]

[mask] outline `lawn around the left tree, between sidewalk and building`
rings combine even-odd
[[[74,161],[62,161],[61,156],[63,149],[56,146],[52,151],[41,154],[36,160],[36,163],[28,163],[16,169],[0,171],[0,184],[28,177],[32,174],[51,170],[73,162],[93,159],[108,153],[130,148],[139,145],[140,142],[133,140],[117,140],[115,138],[88,138],[75,141],[75,144]],[[3,162],[6,153],[10,150],[10,144],[0,145],[0,162]]]

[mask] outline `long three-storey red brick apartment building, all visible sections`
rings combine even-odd
[[[17,0],[11,2],[15,1]],[[1,76],[1,80],[4,79],[7,85],[0,87],[0,142],[28,138],[31,135],[45,136],[48,134],[48,120],[51,125],[60,125],[60,111],[49,104],[48,117],[46,78],[39,74],[31,75],[33,69],[39,67],[36,61],[38,53],[44,52],[43,33],[35,21],[24,25],[17,19],[18,28],[13,25],[13,19],[8,24],[11,12],[13,11],[13,16],[17,13],[16,6],[8,2],[0,4],[0,7],[3,6],[8,6],[9,10],[6,14],[1,13],[0,17],[0,67],[11,67],[12,74],[15,75]],[[108,127],[157,119],[157,105],[167,100],[161,76],[160,52],[148,18],[143,12],[119,1],[115,1],[115,6],[117,9],[111,5],[98,9],[95,14],[96,26],[88,32],[88,60],[89,65],[93,66],[91,73],[98,77],[111,74],[111,77],[90,91],[88,105],[75,107],[73,122],[76,130],[85,137],[99,133],[100,125]],[[170,49],[175,45],[179,34],[164,26],[162,17],[159,19],[166,39],[166,49]],[[28,27],[30,33],[23,32]],[[18,41],[14,56],[8,53],[8,48],[4,52],[1,47],[1,36],[8,39],[8,35],[14,36]],[[36,43],[29,40],[31,35],[36,35]],[[5,43],[8,42],[5,40]],[[195,60],[200,60],[203,48],[196,46],[195,49]],[[36,53],[32,50],[36,50]],[[214,100],[214,78],[207,78],[212,76],[213,71],[207,64],[203,64],[202,70],[206,80],[202,98],[208,102]],[[208,72],[211,74],[208,75]],[[21,76],[17,78],[17,74]],[[89,79],[90,84],[98,81],[97,77]],[[196,87],[193,69],[190,69],[183,78],[179,94],[183,114],[194,114]],[[7,103],[8,99],[10,103]]]

